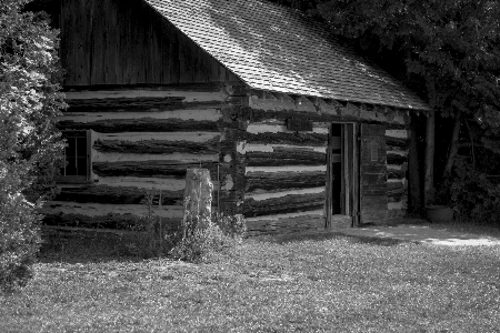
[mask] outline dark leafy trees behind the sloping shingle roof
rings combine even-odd
[[[307,10],[449,121],[442,178],[463,119],[500,128],[500,3],[494,0],[278,0]],[[312,3],[313,2],[313,3]],[[312,4],[311,4],[312,3]],[[432,118],[428,124],[432,132]],[[440,138],[442,139],[442,138]],[[493,144],[490,144],[493,145]],[[433,144],[432,144],[433,147]],[[432,165],[430,165],[432,167]],[[432,169],[432,168],[430,168]]]

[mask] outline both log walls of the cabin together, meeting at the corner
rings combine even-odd
[[[374,117],[362,105],[256,97],[221,84],[73,90],[67,98],[59,128],[91,130],[92,182],[63,185],[43,210],[48,224],[129,229],[153,190],[154,214],[176,225],[186,169],[201,165],[220,186],[213,205],[244,214],[248,235],[323,229],[329,128],[344,121],[386,124],[388,218],[406,212],[403,112]],[[312,130],[287,130],[291,118]],[[337,226],[350,223],[336,219]]]

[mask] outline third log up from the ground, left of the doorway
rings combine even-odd
[[[252,172],[247,174],[247,192],[324,186],[326,172]]]

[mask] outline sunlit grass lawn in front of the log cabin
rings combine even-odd
[[[500,332],[500,246],[330,234],[203,264],[47,255],[0,295],[0,332]]]

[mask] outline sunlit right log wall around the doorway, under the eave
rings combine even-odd
[[[249,235],[274,234],[326,225],[327,147],[332,122],[386,125],[388,219],[406,213],[408,123],[403,110],[292,99],[282,94],[248,92],[249,108],[234,115],[240,133],[237,159],[244,165],[240,202]],[[288,119],[312,122],[312,131],[288,131]],[[337,223],[341,220],[342,223]],[[384,222],[384,221],[381,221]],[[350,219],[336,216],[336,228]]]

